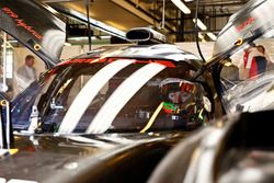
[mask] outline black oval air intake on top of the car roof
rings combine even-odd
[[[167,43],[167,37],[150,28],[150,27],[136,27],[126,33],[128,42],[138,42],[139,44],[160,44]]]

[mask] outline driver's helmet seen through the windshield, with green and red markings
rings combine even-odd
[[[160,83],[163,110],[172,119],[186,125],[204,121],[203,87],[180,78],[168,78]]]

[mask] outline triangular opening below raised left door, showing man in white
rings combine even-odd
[[[24,91],[39,73],[45,71],[45,64],[12,36],[0,31],[0,43],[5,37],[5,45],[0,47],[0,90],[10,99]]]

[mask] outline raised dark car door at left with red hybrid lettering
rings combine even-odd
[[[49,7],[33,0],[0,1],[0,28],[42,58],[47,67],[59,62],[66,24]]]

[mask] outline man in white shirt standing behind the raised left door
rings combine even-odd
[[[23,66],[16,71],[18,84],[20,90],[25,89],[30,83],[36,80],[36,69],[34,68],[35,58],[32,55],[25,57]]]

